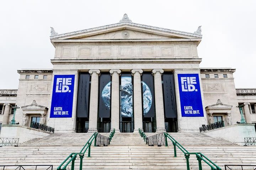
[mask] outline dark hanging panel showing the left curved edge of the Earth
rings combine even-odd
[[[99,91],[99,117],[110,118],[111,105],[111,76],[110,74],[100,75],[100,91]]]

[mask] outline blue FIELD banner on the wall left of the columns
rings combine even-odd
[[[75,75],[54,75],[50,118],[71,118]]]

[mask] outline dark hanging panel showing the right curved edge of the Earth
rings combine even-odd
[[[154,81],[151,73],[142,75],[142,96],[144,117],[155,117]]]

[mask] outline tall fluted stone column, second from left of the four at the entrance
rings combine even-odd
[[[121,70],[110,70],[112,76],[111,80],[111,130],[115,129],[115,132],[119,130],[119,74]]]

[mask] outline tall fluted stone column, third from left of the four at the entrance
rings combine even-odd
[[[142,69],[133,69],[133,110],[134,110],[134,131],[138,132],[139,129],[143,129],[142,126],[142,87],[140,74]]]

